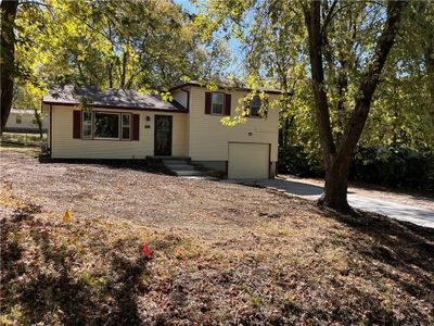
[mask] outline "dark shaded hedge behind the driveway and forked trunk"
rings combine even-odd
[[[302,146],[279,149],[279,173],[323,177],[318,153]],[[356,150],[349,179],[373,185],[434,191],[434,151],[409,148],[365,147]]]

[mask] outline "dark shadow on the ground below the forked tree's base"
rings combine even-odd
[[[352,249],[365,256],[367,264],[378,266],[381,275],[400,284],[410,296],[434,300],[434,229],[359,210],[347,215],[321,208],[316,210],[349,226],[357,234],[368,236],[372,241],[370,246],[353,243]],[[342,244],[348,246],[346,239],[342,239]],[[412,278],[401,279],[396,273],[391,273],[396,269]]]

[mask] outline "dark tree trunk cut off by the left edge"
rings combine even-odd
[[[1,1],[1,115],[0,136],[3,134],[12,108],[15,71],[15,16],[18,1]]]

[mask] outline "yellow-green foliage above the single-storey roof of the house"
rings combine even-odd
[[[16,26],[15,82],[29,101],[50,84],[167,91],[228,60],[225,42],[201,41],[192,15],[168,0],[23,2]]]

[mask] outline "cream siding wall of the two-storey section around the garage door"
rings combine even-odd
[[[266,118],[247,117],[234,127],[224,126],[221,115],[205,114],[206,88],[190,87],[189,156],[192,161],[228,161],[228,142],[271,143],[271,162],[278,161],[279,110],[272,108]],[[246,92],[231,91],[231,116]],[[277,95],[270,95],[270,102]]]

